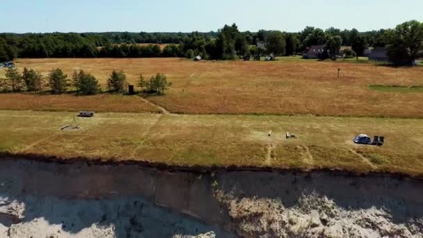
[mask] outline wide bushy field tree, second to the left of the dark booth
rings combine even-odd
[[[77,89],[79,95],[95,95],[101,91],[97,79],[83,70],[72,74],[72,85]]]

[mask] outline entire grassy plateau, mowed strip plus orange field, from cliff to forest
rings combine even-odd
[[[19,59],[18,70],[45,75],[52,68],[69,76],[86,70],[103,89],[113,69],[124,70],[132,84],[141,73],[161,72],[173,85],[164,96],[146,98],[0,93],[0,152],[423,176],[423,68],[359,61]],[[62,131],[82,110],[96,115],[78,118],[81,129]],[[354,144],[361,133],[385,136],[386,143]]]

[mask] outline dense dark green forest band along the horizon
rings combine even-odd
[[[149,43],[151,45],[138,45]],[[257,46],[264,43],[265,47]],[[156,44],[168,44],[161,49]],[[260,44],[258,44],[260,45]],[[395,29],[359,32],[307,26],[298,33],[239,31],[236,24],[209,33],[0,33],[0,61],[14,58],[186,57],[234,59],[274,54],[289,56],[312,45],[326,45],[327,57],[342,45],[361,56],[368,47],[387,47],[391,58],[409,63],[422,56],[423,23],[405,22]]]

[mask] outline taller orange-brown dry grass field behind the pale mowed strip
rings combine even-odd
[[[19,59],[17,68],[47,74],[62,68],[94,74],[106,88],[113,69],[125,70],[135,84],[139,74],[164,73],[173,82],[167,95],[149,100],[177,113],[260,113],[319,116],[423,118],[423,93],[383,92],[369,85],[422,86],[423,67],[390,68],[372,63],[319,62],[280,58],[274,62],[201,61],[179,58],[65,58]],[[337,69],[341,78],[337,79]],[[4,70],[0,70],[2,77]],[[45,100],[42,99],[45,98]],[[74,97],[0,94],[0,109],[79,109]],[[152,111],[138,97],[105,110],[101,100],[83,97],[81,109],[93,111]],[[104,103],[112,102],[102,95]],[[16,103],[15,103],[16,102]],[[67,106],[69,104],[70,106]]]

